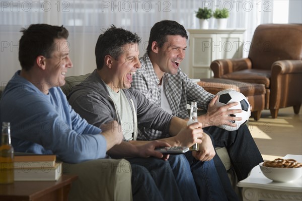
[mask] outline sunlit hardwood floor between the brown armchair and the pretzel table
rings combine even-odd
[[[271,118],[269,110],[263,110],[258,121],[249,119],[249,129],[264,160],[286,154],[302,155],[301,110],[302,107],[299,114],[294,114],[292,107],[282,108],[275,119]]]

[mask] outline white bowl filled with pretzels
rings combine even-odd
[[[277,158],[262,162],[259,166],[264,176],[277,182],[289,182],[302,176],[302,163],[294,159]]]

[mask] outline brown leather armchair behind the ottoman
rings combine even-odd
[[[210,65],[214,78],[264,84],[265,109],[276,118],[279,108],[299,113],[302,93],[302,24],[259,25],[248,58],[218,59]]]

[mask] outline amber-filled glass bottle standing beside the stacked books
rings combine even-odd
[[[0,145],[0,184],[14,182],[14,148],[11,144],[11,124],[2,123]]]

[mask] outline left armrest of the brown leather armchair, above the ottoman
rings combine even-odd
[[[211,70],[214,78],[221,78],[222,75],[252,68],[252,62],[249,58],[240,59],[217,59],[211,62]]]

